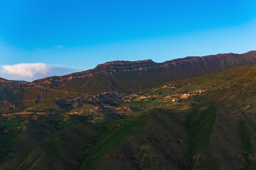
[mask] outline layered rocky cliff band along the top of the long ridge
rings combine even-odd
[[[185,57],[175,60],[170,60],[162,63],[156,63],[152,60],[142,61],[112,61],[104,64],[97,65],[94,69],[87,71],[71,73],[63,76],[46,77],[43,79],[35,80],[28,84],[28,86],[36,86],[42,84],[64,84],[74,79],[91,78],[99,75],[111,75],[111,74],[124,74],[131,72],[144,72],[149,70],[157,70],[166,68],[171,71],[172,68],[182,68],[187,66],[193,66],[193,69],[197,67],[203,67],[209,73],[215,73],[234,66],[251,65],[256,64],[256,51],[249,51],[244,54],[217,54],[207,55],[204,57]],[[185,69],[184,68],[184,69]]]

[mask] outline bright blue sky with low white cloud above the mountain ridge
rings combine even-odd
[[[256,50],[255,9],[255,0],[0,0],[0,77],[245,53]]]

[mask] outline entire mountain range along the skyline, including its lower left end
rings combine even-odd
[[[185,57],[156,63],[152,60],[113,61],[96,68],[33,82],[0,79],[0,112],[37,104],[49,89],[70,93],[136,92],[165,82],[217,73],[236,66],[256,64],[256,51]],[[25,102],[22,102],[25,101]]]

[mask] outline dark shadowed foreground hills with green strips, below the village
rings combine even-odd
[[[255,168],[256,116],[209,102],[67,127],[4,170],[218,170]]]

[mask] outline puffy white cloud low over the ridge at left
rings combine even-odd
[[[0,77],[27,81],[53,75],[65,75],[75,71],[73,68],[58,65],[47,65],[45,63],[20,63],[15,65],[3,65],[1,68]]]

